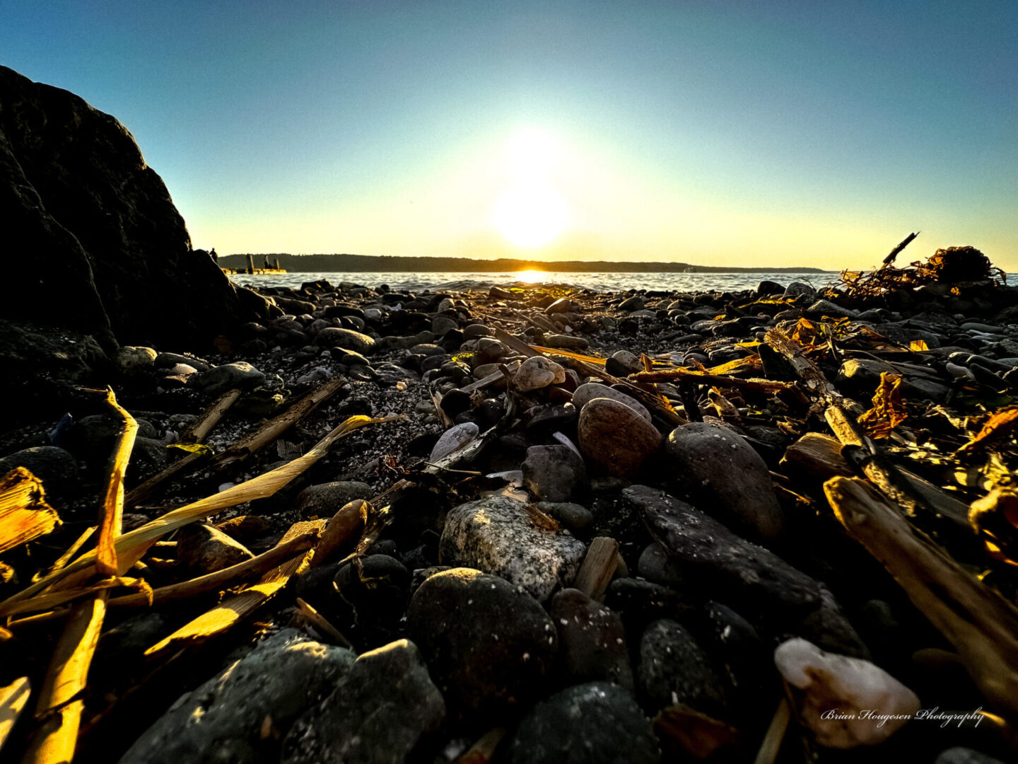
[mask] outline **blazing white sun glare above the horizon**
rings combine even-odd
[[[558,147],[548,133],[524,129],[509,144],[512,185],[492,211],[492,222],[516,247],[533,249],[557,239],[570,223],[569,206],[552,180]]]

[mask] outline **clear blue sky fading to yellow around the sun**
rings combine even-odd
[[[1018,271],[1013,0],[0,0],[194,247]]]

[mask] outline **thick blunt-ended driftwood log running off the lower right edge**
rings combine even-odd
[[[1018,610],[912,528],[865,481],[832,478],[824,491],[849,534],[954,645],[991,704],[1012,724],[1018,720]]]

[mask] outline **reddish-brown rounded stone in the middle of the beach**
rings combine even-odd
[[[577,431],[583,455],[619,478],[636,477],[663,440],[654,425],[611,398],[588,400]]]

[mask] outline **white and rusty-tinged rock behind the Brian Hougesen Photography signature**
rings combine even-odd
[[[799,718],[828,748],[872,746],[890,738],[919,710],[915,693],[861,658],[826,653],[801,638],[774,652],[785,680],[803,691]]]

